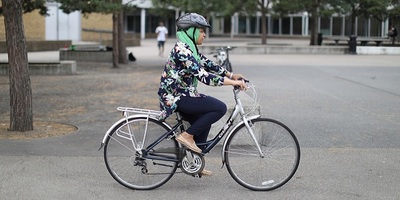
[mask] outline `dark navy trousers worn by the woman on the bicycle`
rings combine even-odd
[[[183,119],[191,124],[186,132],[194,135],[194,141],[196,143],[204,143],[207,141],[211,125],[221,119],[221,117],[225,115],[226,110],[227,108],[224,102],[210,96],[181,96],[177,108],[177,111],[181,113]]]

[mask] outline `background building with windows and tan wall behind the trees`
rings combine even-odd
[[[159,22],[164,22],[169,30],[169,36],[176,33],[175,19],[182,13],[171,9],[169,17],[161,18],[152,9],[151,0],[124,0],[138,9],[125,13],[125,32],[129,37],[153,38],[155,28]],[[83,16],[80,12],[65,14],[60,10],[59,3],[48,2],[49,16],[40,16],[38,12],[24,15],[24,27],[27,40],[72,40],[102,42],[111,40],[112,16],[92,13]],[[0,40],[5,40],[5,31],[2,17],[0,17]],[[232,17],[221,17],[216,13],[209,19],[212,28],[211,36],[259,36],[261,32],[261,16],[235,14]],[[388,19],[380,22],[373,18],[356,18],[357,27],[355,35],[365,37],[386,37],[389,26],[400,25],[400,19]],[[397,24],[396,24],[397,23]],[[308,37],[310,34],[310,18],[308,13],[292,14],[283,18],[267,16],[267,34],[269,36],[300,36]],[[351,22],[348,16],[333,15],[320,18],[318,30],[325,36],[349,36]]]

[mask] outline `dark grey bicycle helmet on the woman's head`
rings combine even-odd
[[[176,20],[178,30],[186,30],[190,27],[196,28],[210,28],[207,20],[197,13],[186,13]]]

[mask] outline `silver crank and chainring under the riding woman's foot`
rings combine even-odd
[[[203,155],[187,150],[186,155],[181,161],[180,168],[185,174],[196,177],[199,176],[200,172],[203,171],[204,165],[205,160]]]

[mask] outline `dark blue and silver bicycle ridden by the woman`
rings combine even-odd
[[[176,124],[170,126],[158,120],[160,111],[118,107],[124,117],[110,127],[100,147],[104,146],[108,172],[121,185],[137,190],[162,186],[178,167],[185,174],[201,177],[205,165],[203,156],[226,136],[222,163],[237,183],[255,191],[281,187],[299,166],[297,138],[283,123],[252,114],[258,106],[254,86],[243,92],[250,93],[255,105],[252,109],[243,107],[240,93],[240,89],[234,87],[235,107],[218,134],[204,144],[197,144],[205,145],[201,154],[189,151],[174,139],[185,130],[178,112],[175,113]],[[240,120],[234,124],[236,118]]]

